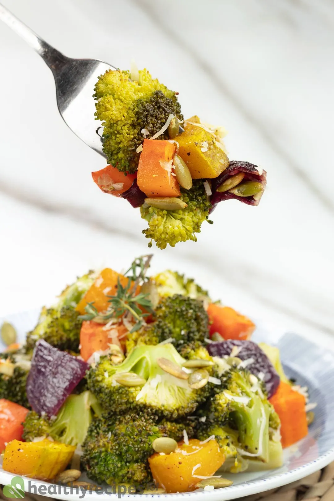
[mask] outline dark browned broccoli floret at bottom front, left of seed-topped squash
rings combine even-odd
[[[181,440],[183,423],[158,421],[146,413],[104,415],[89,427],[83,444],[82,463],[87,475],[98,483],[129,483],[145,488],[153,482],[148,458],[155,438]],[[192,436],[192,429],[187,429]]]

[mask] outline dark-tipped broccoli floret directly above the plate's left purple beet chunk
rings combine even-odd
[[[78,353],[82,319],[72,306],[43,308],[35,329],[27,334],[26,350],[34,349],[39,339],[55,346],[59,350]]]

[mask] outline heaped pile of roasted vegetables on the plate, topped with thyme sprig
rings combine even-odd
[[[79,278],[23,346],[4,324],[5,470],[210,490],[232,483],[226,471],[281,466],[282,447],[307,434],[306,389],[287,379],[278,349],[252,342],[253,322],[194,280],[148,276],[150,260]]]

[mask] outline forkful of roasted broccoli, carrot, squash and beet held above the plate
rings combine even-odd
[[[94,94],[110,165],[92,172],[93,179],[140,207],[149,246],[154,240],[160,248],[196,241],[222,200],[258,205],[266,185],[262,168],[229,161],[222,127],[183,119],[177,94],[137,69],[107,71]]]

